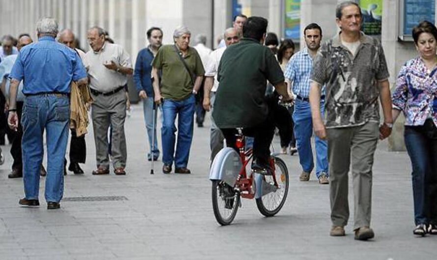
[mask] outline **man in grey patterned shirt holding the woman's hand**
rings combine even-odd
[[[361,9],[354,1],[339,3],[340,32],[324,43],[314,60],[309,100],[314,132],[328,139],[331,236],[345,235],[349,219],[348,172],[352,162],[355,239],[374,237],[372,211],[373,156],[380,137],[393,124],[388,69],[381,42],[360,31]],[[326,117],[320,112],[321,89],[326,84]]]

